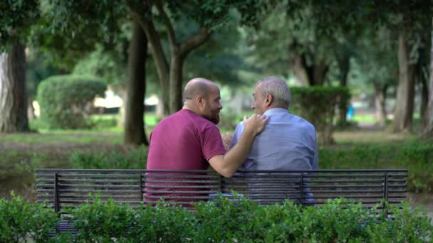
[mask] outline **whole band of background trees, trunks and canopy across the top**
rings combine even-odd
[[[348,86],[353,101],[372,97],[379,124],[393,115],[390,131],[411,132],[419,111],[431,136],[432,5],[1,1],[0,132],[28,131],[38,82],[73,73],[100,77],[122,95],[125,144],[147,144],[146,95],[157,94],[163,114],[172,114],[182,107],[184,83],[197,76],[228,85],[233,100],[266,75],[290,85]]]

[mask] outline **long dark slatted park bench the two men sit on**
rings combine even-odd
[[[171,190],[167,193],[164,188]],[[152,193],[154,200],[165,198],[188,206],[191,200],[214,200],[219,193],[231,197],[233,191],[261,205],[288,199],[320,206],[328,199],[347,198],[373,207],[385,202],[400,206],[406,199],[406,190],[405,169],[239,171],[232,178],[224,178],[215,171],[36,169],[37,201],[47,202],[59,215],[65,207],[92,202],[92,195],[135,208],[143,207],[144,193]],[[383,209],[382,205],[377,207]],[[385,217],[391,215],[385,212]],[[58,231],[66,230],[73,231],[64,221]]]

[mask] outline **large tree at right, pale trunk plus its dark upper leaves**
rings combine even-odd
[[[391,124],[393,132],[412,131],[414,112],[414,86],[416,65],[422,35],[429,29],[432,3],[429,1],[392,1],[380,9],[390,9],[390,26],[398,33],[399,84],[395,116]],[[428,32],[427,32],[428,33]]]

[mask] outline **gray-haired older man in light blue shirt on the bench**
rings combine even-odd
[[[288,85],[278,77],[267,77],[257,82],[251,108],[256,114],[269,117],[266,129],[254,140],[241,170],[317,170],[318,148],[315,128],[305,119],[288,112],[291,94]],[[244,121],[236,127],[230,147],[241,142]],[[260,184],[256,184],[260,185]],[[254,193],[266,188],[251,189]],[[304,188],[304,193],[308,188]],[[289,197],[293,193],[287,192]],[[307,194],[311,195],[311,194]],[[312,202],[312,200],[308,200]]]

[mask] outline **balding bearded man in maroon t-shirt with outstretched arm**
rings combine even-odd
[[[226,152],[216,126],[222,109],[218,86],[212,81],[194,78],[185,86],[183,97],[182,109],[160,121],[150,134],[147,170],[207,170],[210,164],[216,172],[231,177],[244,162],[255,136],[263,131],[268,118],[258,114],[253,114],[248,119],[244,117],[244,134]],[[192,183],[200,180],[197,175],[194,178],[194,175],[189,174],[182,179],[172,177],[187,173],[152,172],[146,175],[147,202],[157,201],[161,197],[165,200],[191,202],[194,201],[194,196],[199,200],[199,190],[203,190]],[[158,175],[159,178],[152,175]],[[161,175],[167,177],[161,178]],[[176,183],[175,180],[187,180],[189,183]],[[184,194],[187,190],[192,193]]]

